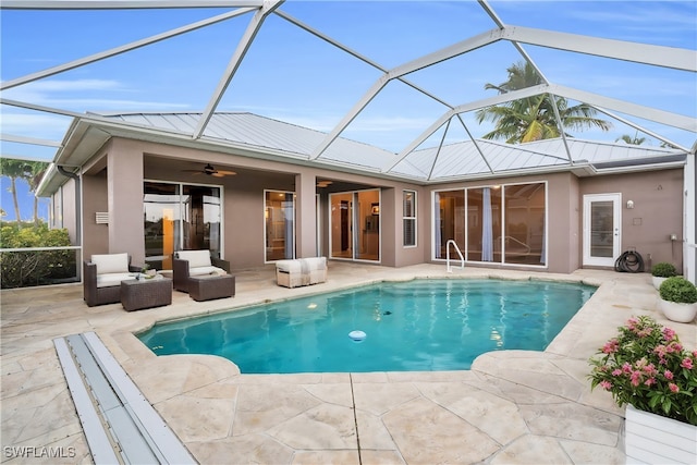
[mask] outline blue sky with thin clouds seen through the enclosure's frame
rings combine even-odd
[[[646,44],[697,48],[697,2],[491,1],[508,25],[585,34]],[[288,1],[281,11],[391,69],[496,27],[474,1]],[[224,9],[0,12],[2,81],[227,12]],[[170,112],[206,108],[250,14],[191,32],[121,56],[8,89],[3,98],[74,112]],[[695,73],[641,66],[524,46],[549,81],[697,118]],[[498,42],[406,76],[452,105],[493,95],[486,83],[505,81],[519,61]],[[380,76],[375,68],[271,15],[252,45],[218,110],[249,111],[330,131]],[[71,119],[1,106],[3,133],[61,140]],[[399,151],[445,108],[391,82],[342,134]],[[467,122],[473,115],[465,115]],[[695,135],[662,132],[690,146]],[[475,136],[489,130],[470,127]],[[455,130],[453,130],[455,131]],[[460,130],[463,132],[463,130]],[[615,124],[610,134],[578,137],[614,140],[635,131]],[[439,138],[440,133],[433,138]],[[449,133],[449,139],[464,137]],[[592,137],[591,137],[592,136]],[[658,145],[658,142],[651,142]],[[50,160],[54,148],[3,143],[3,156]]]

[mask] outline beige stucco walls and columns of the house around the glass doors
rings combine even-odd
[[[182,170],[183,167],[191,168],[191,164],[183,164],[183,160],[195,161],[201,167],[207,162],[232,167],[239,174],[197,176]],[[673,261],[680,267],[680,243],[671,243],[669,235],[680,235],[682,231],[682,172],[677,169],[580,179],[560,172],[419,186],[233,154],[115,138],[90,161],[83,176],[84,252],[86,257],[95,253],[129,252],[134,262],[143,261],[143,179],[220,185],[223,192],[223,258],[231,261],[233,269],[256,268],[265,264],[265,189],[295,192],[297,195],[297,256],[315,254],[315,195],[319,194],[319,240],[322,255],[329,256],[328,194],[378,188],[381,198],[380,264],[403,267],[431,261],[433,191],[547,182],[548,264],[546,268],[536,269],[572,272],[580,268],[583,196],[613,192],[621,192],[624,201],[632,198],[635,203],[634,210],[623,210],[622,248],[634,246],[645,258],[650,254],[653,262]],[[316,181],[320,179],[330,179],[334,183],[327,188],[316,188]],[[415,191],[418,196],[416,247],[402,245],[403,189]],[[110,212],[111,228],[95,224],[97,211]]]

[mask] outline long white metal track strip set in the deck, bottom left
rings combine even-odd
[[[196,463],[96,333],[53,345],[95,463]]]

